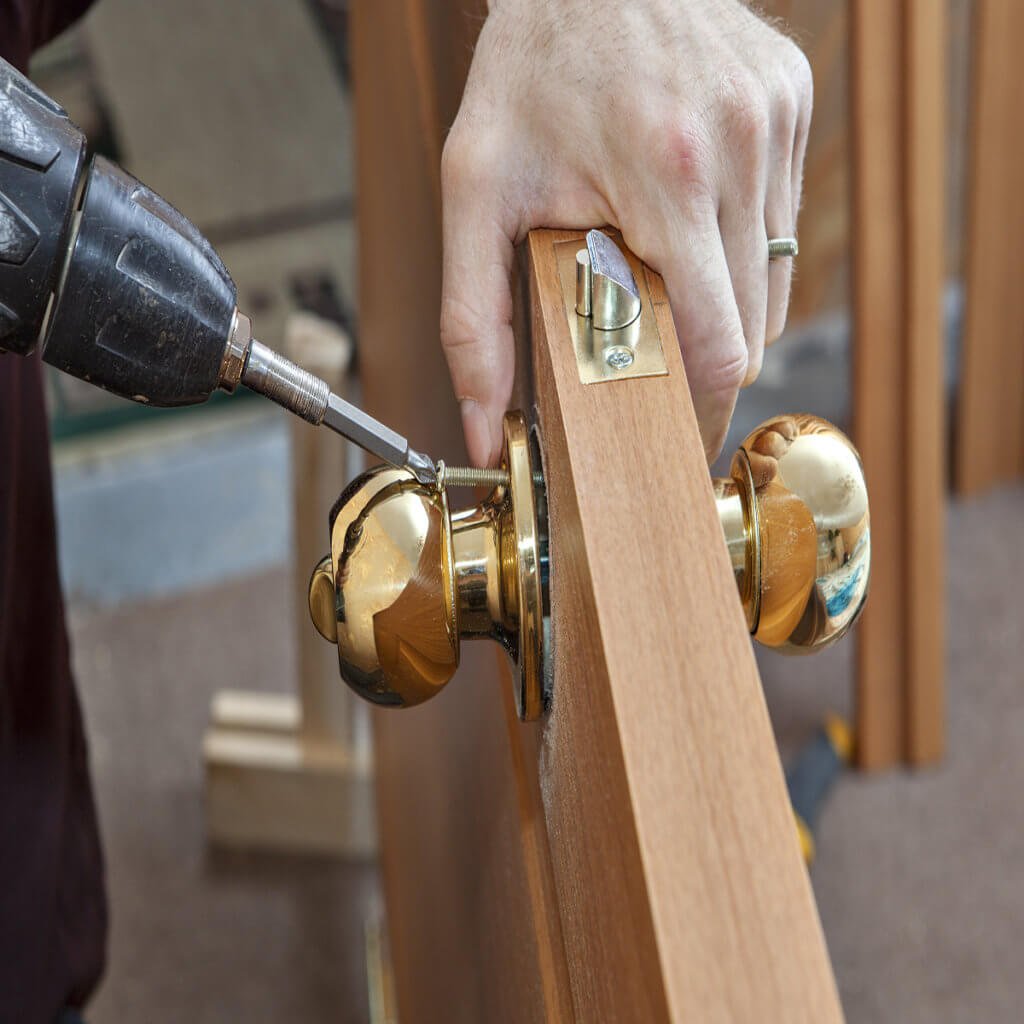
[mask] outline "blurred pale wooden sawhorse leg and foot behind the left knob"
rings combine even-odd
[[[347,338],[306,314],[286,329],[290,358],[344,394]],[[292,421],[294,616],[298,692],[222,690],[203,741],[207,834],[226,846],[370,856],[376,852],[368,709],[338,678],[335,647],[309,621],[309,573],[328,547],[328,512],[347,482],[346,445]]]

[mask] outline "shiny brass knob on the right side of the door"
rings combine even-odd
[[[850,440],[814,416],[761,424],[715,480],[751,634],[769,647],[820,650],[867,596],[867,485]]]

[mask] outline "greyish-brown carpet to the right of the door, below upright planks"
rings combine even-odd
[[[1024,487],[954,503],[948,526],[948,755],[845,776],[819,827],[812,879],[851,1024],[1022,1019]],[[783,748],[847,699],[848,654],[761,658]]]

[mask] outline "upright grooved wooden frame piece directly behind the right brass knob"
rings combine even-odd
[[[945,5],[851,0],[853,438],[871,496],[857,761],[945,746]]]

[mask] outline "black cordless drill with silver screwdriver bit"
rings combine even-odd
[[[245,384],[435,481],[427,456],[255,340],[196,226],[85,150],[65,111],[0,60],[0,354],[39,345],[58,370],[147,406]]]

